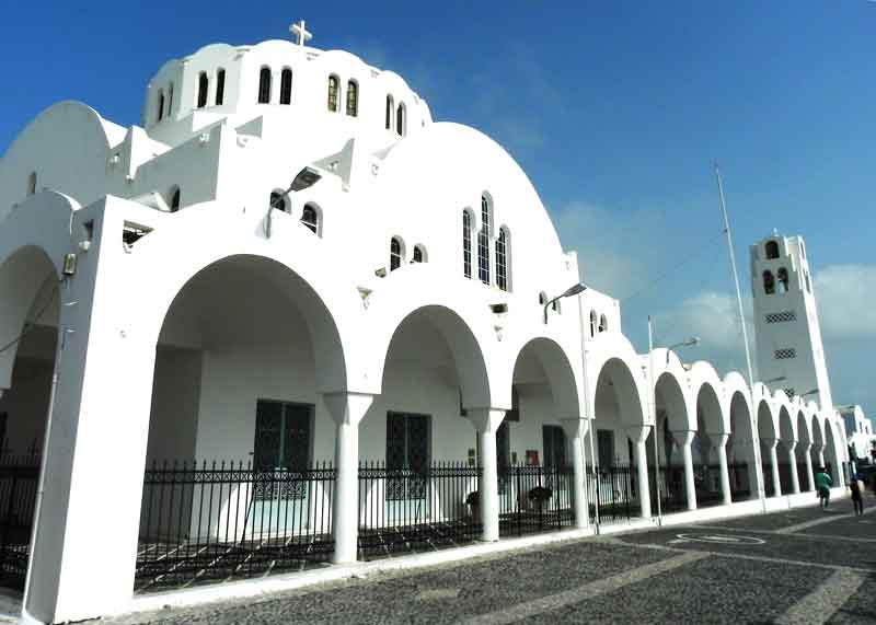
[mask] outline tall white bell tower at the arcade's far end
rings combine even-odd
[[[802,236],[773,235],[751,246],[758,373],[772,391],[833,407],[812,278]]]

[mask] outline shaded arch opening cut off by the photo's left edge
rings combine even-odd
[[[23,591],[50,413],[62,297],[36,246],[0,267],[0,586]]]

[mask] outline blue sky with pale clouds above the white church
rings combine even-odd
[[[834,400],[876,412],[876,2],[8,0],[3,11],[15,86],[0,151],[58,100],[137,124],[168,58],[283,38],[304,18],[312,45],[397,71],[436,119],[503,143],[585,280],[623,298],[639,348],[654,314],[660,339],[702,334],[689,357],[726,369],[744,360],[717,238],[718,159],[746,291],[748,243],[773,228],[803,234]]]

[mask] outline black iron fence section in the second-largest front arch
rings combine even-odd
[[[374,559],[470,543],[481,535],[481,467],[435,462],[417,471],[359,465],[359,556]]]

